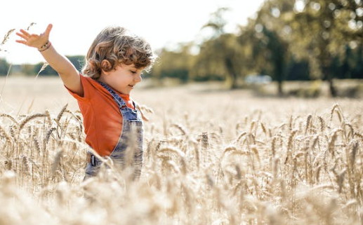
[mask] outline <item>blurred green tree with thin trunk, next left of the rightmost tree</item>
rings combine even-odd
[[[265,1],[256,19],[250,19],[246,27],[241,27],[239,36],[241,43],[252,46],[253,71],[272,76],[277,81],[279,95],[284,93],[283,81],[289,61],[289,37],[281,15],[292,8],[288,0]]]

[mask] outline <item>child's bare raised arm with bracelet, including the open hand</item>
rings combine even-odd
[[[77,71],[77,69],[74,67],[72,62],[67,59],[67,57],[60,55],[55,50],[51,42],[49,42],[49,34],[51,33],[52,27],[53,25],[48,25],[48,27],[46,27],[46,31],[43,34],[29,34],[24,29],[20,29],[20,32],[17,32],[16,34],[20,36],[22,40],[16,40],[16,42],[23,43],[26,46],[38,48],[46,62],[48,62],[48,64],[58,72],[60,79],[62,79],[65,86],[72,90],[73,93],[83,96],[84,91],[81,86],[79,71]]]

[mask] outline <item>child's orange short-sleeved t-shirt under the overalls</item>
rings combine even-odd
[[[83,115],[86,143],[100,156],[110,156],[122,131],[122,115],[119,105],[100,83],[88,76],[80,76],[84,96],[72,93],[66,88],[77,99]],[[127,107],[134,109],[129,95],[121,94],[116,90],[115,92],[122,97]]]

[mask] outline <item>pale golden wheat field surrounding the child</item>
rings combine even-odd
[[[0,224],[363,224],[363,102],[136,88],[138,181],[83,182],[84,128],[59,79],[1,80]]]

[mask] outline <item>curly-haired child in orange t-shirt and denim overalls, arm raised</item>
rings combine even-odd
[[[58,72],[65,88],[77,99],[84,118],[86,143],[101,157],[110,157],[124,166],[132,153],[133,169],[140,176],[143,161],[143,118],[130,98],[140,83],[141,73],[152,67],[155,56],[150,44],[128,34],[123,27],[107,27],[96,36],[86,55],[82,74],[63,55],[57,53],[48,25],[43,34],[29,34],[23,29],[17,40],[39,50]],[[85,178],[95,176],[102,161],[88,154]]]

